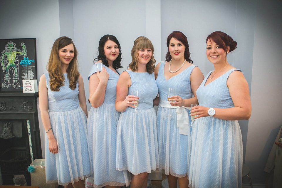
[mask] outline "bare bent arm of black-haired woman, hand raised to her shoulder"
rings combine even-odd
[[[104,102],[109,76],[103,67],[100,73],[97,71],[89,78],[89,101],[94,108],[98,108]]]

